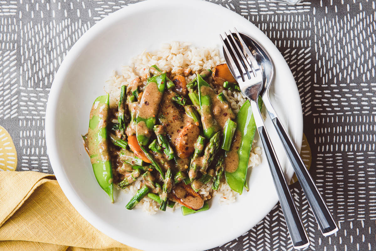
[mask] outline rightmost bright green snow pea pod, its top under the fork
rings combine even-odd
[[[259,98],[259,108],[261,109],[261,107],[262,100]],[[237,130],[241,133],[241,143],[237,150],[239,165],[235,172],[225,172],[225,177],[231,189],[242,194],[244,182],[247,177],[249,154],[257,129],[252,114],[252,108],[248,100],[240,108],[237,116],[237,124]]]

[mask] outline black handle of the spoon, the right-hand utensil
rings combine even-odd
[[[291,141],[290,136],[288,136],[278,117],[273,118],[272,121],[276,127],[287,156],[290,159],[291,165],[293,165],[296,176],[303,188],[309,206],[311,206],[312,212],[315,215],[321,232],[324,236],[335,233],[338,230],[337,224],[335,223],[323,198],[321,197],[320,192],[313,182],[311,175],[305,167],[303,160],[300,158],[300,155]]]

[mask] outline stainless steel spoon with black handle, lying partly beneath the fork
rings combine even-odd
[[[264,102],[265,108],[267,109],[271,121],[273,121],[274,127],[276,128],[279,138],[282,141],[282,145],[284,146],[288,159],[294,168],[299,183],[303,188],[318,226],[324,236],[333,234],[338,231],[337,224],[335,223],[323,198],[321,197],[321,194],[312,180],[311,175],[309,174],[307,168],[305,168],[303,160],[300,158],[293,141],[282,126],[282,123],[280,122],[280,119],[278,118],[278,115],[270,102],[269,89],[274,75],[273,63],[268,53],[260,44],[258,44],[258,42],[243,33],[240,33],[240,37],[242,38],[243,42],[238,41],[239,44],[249,48],[258,65],[260,65],[262,68],[264,82],[264,88],[261,90],[262,101]]]

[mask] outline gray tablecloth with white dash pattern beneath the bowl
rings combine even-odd
[[[44,116],[54,74],[86,30],[135,2],[0,0],[0,125],[17,149],[18,171],[53,172]],[[291,185],[311,240],[306,250],[376,250],[376,1],[212,2],[258,26],[297,82],[310,172],[340,227],[323,237],[302,188]],[[291,249],[277,205],[247,233],[214,250]]]

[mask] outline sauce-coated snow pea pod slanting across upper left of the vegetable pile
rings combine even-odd
[[[165,87],[166,73],[162,73],[153,76],[144,89],[136,115],[136,136],[139,145],[144,146],[149,141]]]

